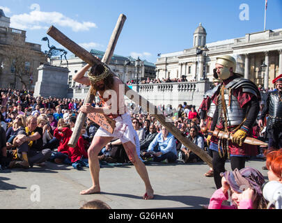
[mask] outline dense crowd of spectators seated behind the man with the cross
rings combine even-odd
[[[70,98],[33,97],[31,91],[0,89],[1,98],[1,167],[29,168],[45,162],[70,164],[75,169],[88,167],[87,149],[99,125],[86,118],[75,148],[68,146],[79,107],[84,100]],[[100,106],[93,104],[93,106]],[[157,106],[171,118],[176,128],[197,146],[208,151],[206,135],[199,127],[199,115],[194,105],[186,102],[173,108]],[[185,148],[154,116],[133,103],[127,105],[134,127],[136,151],[143,161],[199,162],[201,159]],[[263,109],[263,105],[261,105]],[[255,126],[254,136],[264,139],[263,129]],[[5,136],[5,137],[3,137]],[[4,139],[5,138],[5,139]],[[263,154],[263,151],[260,151]],[[99,154],[100,161],[130,162],[121,141],[111,141]]]

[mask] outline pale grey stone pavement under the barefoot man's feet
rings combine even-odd
[[[252,159],[246,167],[261,169],[264,160]],[[80,195],[91,186],[89,169],[78,171],[63,164],[47,162],[45,167],[0,171],[0,208],[67,208],[77,209],[86,201],[100,199],[113,209],[200,209],[215,190],[213,178],[203,174],[209,169],[204,162],[194,164],[146,164],[155,199],[143,200],[143,181],[133,165],[103,166],[100,169],[101,194]],[[230,162],[226,162],[230,170]]]

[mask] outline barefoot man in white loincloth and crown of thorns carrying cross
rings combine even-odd
[[[113,139],[120,139],[128,158],[134,164],[136,171],[145,183],[146,192],[143,195],[143,199],[152,199],[154,197],[154,190],[152,190],[150,185],[145,164],[143,164],[136,153],[135,134],[130,114],[125,111],[124,96],[119,94],[119,87],[123,86],[123,82],[118,77],[113,76],[107,66],[102,65],[93,66],[88,72],[88,77],[84,77],[85,72],[89,68],[91,68],[90,65],[81,68],[77,75],[73,77],[73,80],[86,86],[91,85],[91,93],[93,95],[97,93],[104,106],[92,107],[90,103],[86,103],[86,105],[81,106],[80,111],[84,114],[93,112],[107,114],[109,118],[113,118],[116,121],[116,128],[113,130],[113,133],[109,133],[100,127],[95,133],[91,146],[88,148],[88,162],[93,185],[87,190],[81,191],[80,194],[100,193],[98,153]]]

